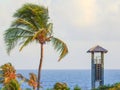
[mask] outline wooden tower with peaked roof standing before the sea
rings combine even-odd
[[[91,87],[104,85],[104,53],[108,51],[97,45],[87,51],[91,53]]]

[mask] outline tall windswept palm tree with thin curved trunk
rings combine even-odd
[[[44,44],[46,42],[52,43],[54,49],[60,53],[58,61],[66,56],[68,48],[62,40],[53,36],[53,24],[48,21],[48,9],[44,6],[25,4],[15,12],[13,17],[15,17],[15,20],[4,34],[7,53],[10,54],[10,51],[18,44],[20,45],[20,51],[33,41],[40,44],[37,86],[37,90],[39,90]]]

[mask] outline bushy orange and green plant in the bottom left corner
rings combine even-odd
[[[11,63],[0,66],[0,83],[3,85],[2,90],[21,90]]]

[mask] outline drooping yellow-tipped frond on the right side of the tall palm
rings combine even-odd
[[[51,41],[53,43],[54,49],[60,53],[59,60],[65,57],[68,53],[67,45],[58,38],[52,37]]]

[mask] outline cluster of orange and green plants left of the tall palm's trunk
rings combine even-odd
[[[2,85],[2,90],[23,90],[21,88],[21,81],[28,83],[33,90],[36,90],[37,76],[34,73],[29,73],[29,76],[29,78],[25,78],[22,74],[17,74],[11,63],[0,66],[0,84]]]

